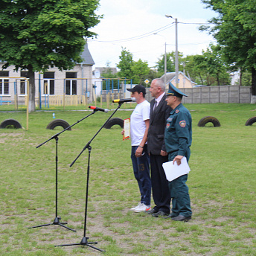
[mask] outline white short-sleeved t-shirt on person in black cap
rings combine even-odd
[[[138,146],[146,130],[145,120],[150,119],[150,103],[147,100],[139,103],[131,115],[131,142],[132,146]]]

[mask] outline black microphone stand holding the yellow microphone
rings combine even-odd
[[[103,126],[100,127],[100,129],[95,133],[95,135],[92,137],[92,139],[86,144],[86,146],[83,148],[83,150],[77,156],[77,158],[74,159],[74,161],[72,161],[72,163],[70,164],[70,167],[71,167],[75,163],[75,161],[77,161],[77,159],[81,156],[83,151],[85,151],[86,148],[88,148],[87,182],[86,182],[86,207],[85,207],[85,217],[84,217],[83,238],[80,241],[80,243],[70,243],[70,244],[63,244],[63,245],[59,245],[59,246],[89,246],[89,247],[92,247],[93,249],[96,249],[100,252],[105,252],[102,249],[99,249],[95,246],[92,246],[92,244],[97,244],[97,242],[88,242],[89,237],[86,237],[86,220],[87,220],[87,205],[88,205],[88,191],[89,191],[90,157],[91,157],[91,151],[92,151],[92,147],[90,146],[90,144],[93,141],[93,139],[97,136],[97,134],[100,132],[100,130],[109,121],[109,119],[112,118],[112,116],[115,114],[115,112],[118,111],[118,109],[121,107],[121,104],[122,103],[119,103],[117,109],[115,109],[115,111],[112,113],[112,115],[109,116],[109,118],[106,120],[106,122],[103,124]]]

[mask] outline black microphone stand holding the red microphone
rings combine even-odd
[[[41,147],[43,144],[47,143],[48,141],[51,141],[52,139],[55,139],[56,141],[56,156],[55,156],[55,173],[56,173],[56,189],[55,189],[55,193],[56,193],[56,196],[55,196],[55,219],[54,219],[54,222],[53,223],[48,223],[48,224],[42,224],[42,225],[34,225],[33,227],[30,227],[30,228],[39,228],[39,227],[43,227],[43,226],[46,226],[46,225],[60,225],[62,226],[63,228],[67,228],[71,231],[74,231],[76,232],[73,228],[68,228],[67,226],[63,225],[63,224],[67,224],[67,223],[61,223],[60,222],[60,219],[61,217],[58,217],[58,136],[65,132],[67,129],[71,129],[71,127],[74,127],[75,124],[78,124],[80,123],[80,121],[83,121],[84,119],[88,118],[90,115],[93,115],[95,114],[95,111],[92,112],[91,114],[89,115],[86,115],[86,117],[80,119],[79,121],[77,121],[76,123],[72,124],[71,126],[63,129],[63,131],[61,132],[58,132],[57,134],[53,135],[51,138],[49,138],[47,141],[43,142],[42,144],[39,144],[36,148],[38,147]]]

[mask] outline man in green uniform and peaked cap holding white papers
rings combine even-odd
[[[192,142],[192,119],[191,113],[182,105],[182,96],[187,97],[183,92],[169,84],[166,102],[172,108],[169,118],[167,118],[164,141],[169,161],[176,161],[181,164],[185,156],[187,160],[191,156]],[[170,196],[172,198],[172,213],[167,217],[172,220],[191,220],[191,199],[186,185],[188,174],[179,176],[169,182]],[[167,218],[166,217],[166,218]]]

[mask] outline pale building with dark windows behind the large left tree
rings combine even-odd
[[[88,45],[84,47],[81,54],[82,63],[77,63],[70,70],[60,71],[58,68],[49,68],[44,74],[35,72],[36,98],[43,98],[45,95],[86,95],[92,100],[92,65],[95,64],[89,52]],[[4,65],[0,61],[0,69]],[[12,77],[28,77],[28,71],[15,66],[0,71],[0,100],[13,102],[17,97],[19,102],[24,102],[27,95],[25,80]],[[1,78],[10,77],[10,78]]]

